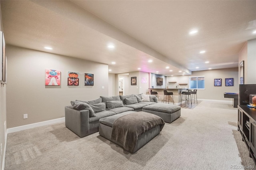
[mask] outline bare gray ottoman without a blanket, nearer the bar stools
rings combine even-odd
[[[170,105],[166,103],[155,103],[153,105],[144,106],[142,111],[152,113],[161,117],[165,122],[172,123],[180,117],[180,106]]]

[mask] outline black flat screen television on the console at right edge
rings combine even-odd
[[[256,95],[256,84],[239,85],[239,105],[249,105],[249,96]]]

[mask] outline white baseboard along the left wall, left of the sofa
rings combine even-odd
[[[21,131],[21,130],[30,129],[30,128],[41,127],[41,126],[44,126],[44,125],[51,125],[51,124],[54,124],[54,123],[61,123],[61,122],[65,122],[65,117],[62,117],[62,118],[59,118],[59,119],[53,119],[53,120],[50,120],[50,121],[33,123],[33,124],[24,125],[24,126],[20,126],[20,127],[8,128],[7,129],[7,134],[13,133],[13,132],[18,132],[18,131]]]

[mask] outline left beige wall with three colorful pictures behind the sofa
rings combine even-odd
[[[62,118],[72,100],[108,96],[108,65],[10,45],[6,51],[8,128]],[[45,86],[45,69],[61,71],[61,86]],[[78,87],[67,86],[68,71],[80,73]],[[94,86],[84,86],[84,73],[94,74]]]

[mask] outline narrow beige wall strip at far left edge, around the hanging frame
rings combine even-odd
[[[0,8],[0,31],[3,31]],[[0,83],[0,144],[2,152],[0,153],[0,169],[3,168],[4,148],[6,146],[6,86]]]

